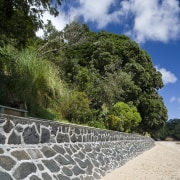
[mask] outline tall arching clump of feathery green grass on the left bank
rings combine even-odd
[[[45,117],[45,111],[38,112],[41,107],[55,104],[56,98],[63,94],[57,68],[39,58],[33,49],[19,52],[12,46],[0,48],[0,67],[0,104],[21,105],[31,115]]]

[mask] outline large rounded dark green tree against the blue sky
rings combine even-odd
[[[132,102],[142,117],[136,131],[158,131],[167,120],[167,109],[158,95],[162,75],[150,56],[124,35],[105,31],[87,35],[86,41],[65,50],[61,65],[66,82],[85,91],[93,109]]]

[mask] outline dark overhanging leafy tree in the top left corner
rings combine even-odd
[[[62,0],[0,0],[0,38],[1,44],[16,40],[17,47],[24,47],[35,32],[43,28],[42,15],[49,11],[58,15]]]

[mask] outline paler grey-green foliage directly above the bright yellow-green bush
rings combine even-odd
[[[112,106],[118,101],[133,101],[139,91],[140,88],[134,84],[131,75],[120,69],[99,78],[89,95],[93,102],[96,101],[96,106],[101,107],[103,104]]]

